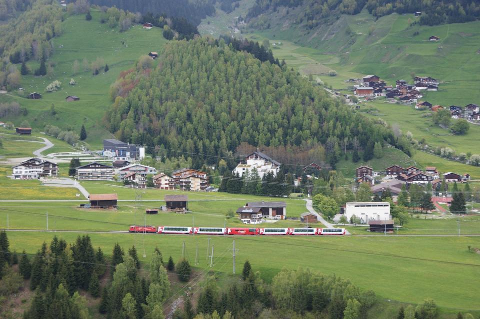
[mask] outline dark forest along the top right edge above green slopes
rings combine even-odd
[[[427,25],[467,22],[480,17],[479,0],[256,0],[246,17],[252,18],[268,10],[274,11],[278,6],[298,5],[304,5],[305,10],[303,17],[298,17],[297,21],[304,18],[307,27],[314,27],[322,18],[334,14],[357,14],[363,8],[374,16],[421,11],[419,23]]]

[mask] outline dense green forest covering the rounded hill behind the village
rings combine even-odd
[[[207,163],[208,155],[222,156],[242,142],[322,144],[330,163],[347,149],[373,147],[376,141],[408,153],[408,143],[386,125],[353,112],[286,65],[262,63],[222,40],[214,43],[171,41],[155,69],[138,63],[120,74],[111,86],[108,129],[131,143],[206,154]]]

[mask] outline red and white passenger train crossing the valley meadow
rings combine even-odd
[[[345,235],[344,228],[215,228],[183,226],[130,226],[130,233],[183,235]]]

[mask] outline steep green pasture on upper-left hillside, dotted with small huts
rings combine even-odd
[[[112,136],[102,122],[103,115],[111,104],[110,84],[115,81],[120,71],[132,67],[140,56],[148,54],[149,51],[159,51],[166,40],[159,28],[146,30],[141,25],[134,25],[125,32],[118,32],[109,28],[106,23],[100,24],[99,11],[92,10],[91,15],[91,21],[86,21],[81,14],[69,16],[62,22],[63,33],[53,39],[55,49],[50,59],[54,64],[51,75],[23,76],[23,93],[15,93],[13,96],[0,95],[0,102],[17,101],[28,109],[26,117],[8,118],[8,121],[19,125],[23,119],[27,119],[34,130],[51,124],[64,130],[71,129],[77,134],[84,124],[88,135],[86,142],[93,147],[98,147],[102,138]],[[100,73],[94,76],[89,66],[83,67],[83,60],[90,65],[97,58],[103,62]],[[75,60],[79,65],[76,72],[72,69]],[[109,67],[106,73],[103,72],[105,64]],[[38,63],[28,61],[27,66],[34,70]],[[74,78],[77,84],[69,85],[70,78]],[[61,89],[52,93],[45,92],[46,85],[53,80],[62,83]],[[26,94],[34,91],[42,94],[41,100],[25,98]],[[80,100],[66,102],[67,95],[76,95]],[[52,104],[56,111],[54,115],[50,112]]]

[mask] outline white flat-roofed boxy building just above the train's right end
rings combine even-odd
[[[370,220],[386,221],[390,220],[389,202],[354,202],[346,203],[344,216],[350,221],[355,215],[360,218],[362,224],[367,224]]]

